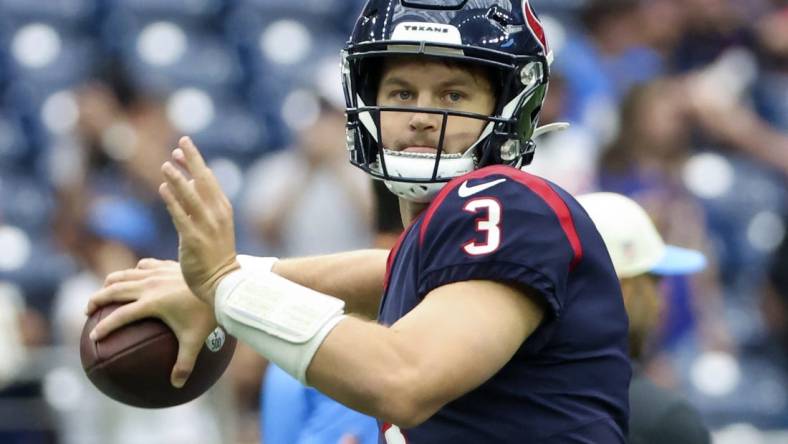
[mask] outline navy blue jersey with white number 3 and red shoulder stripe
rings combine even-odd
[[[381,442],[625,442],[627,316],[607,249],[581,206],[506,166],[453,180],[392,250],[379,320],[391,325],[430,291],[468,280],[535,290],[543,322],[490,380],[418,427],[381,424]]]

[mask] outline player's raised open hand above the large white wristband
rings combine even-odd
[[[188,137],[178,141],[162,172],[165,182],[159,194],[178,230],[181,272],[192,292],[213,306],[219,281],[240,268],[232,205]]]

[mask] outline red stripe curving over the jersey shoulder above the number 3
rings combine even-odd
[[[583,258],[583,245],[580,243],[580,236],[577,234],[575,221],[572,219],[572,212],[569,211],[569,207],[566,205],[566,202],[564,202],[561,196],[559,196],[558,193],[556,193],[555,190],[544,181],[544,179],[528,174],[525,171],[520,171],[516,168],[504,165],[495,165],[482,168],[449,182],[448,185],[446,185],[441,190],[435,200],[432,201],[429,208],[427,209],[427,213],[424,216],[424,220],[422,221],[419,230],[419,245],[424,244],[424,236],[427,233],[427,227],[429,226],[430,220],[432,220],[432,216],[435,215],[435,212],[438,210],[441,203],[446,199],[446,196],[448,196],[449,193],[451,193],[466,180],[482,179],[484,177],[496,174],[506,176],[509,179],[525,185],[528,189],[536,193],[537,196],[542,198],[547,206],[553,210],[553,213],[555,213],[556,217],[558,217],[558,222],[561,224],[561,229],[564,231],[564,234],[566,234],[569,245],[572,247],[574,257],[572,258],[572,263],[569,267],[570,270],[574,269],[577,263]]]

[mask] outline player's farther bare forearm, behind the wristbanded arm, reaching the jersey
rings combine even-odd
[[[348,313],[376,319],[388,250],[359,250],[283,259],[273,272],[304,287],[345,301]]]

